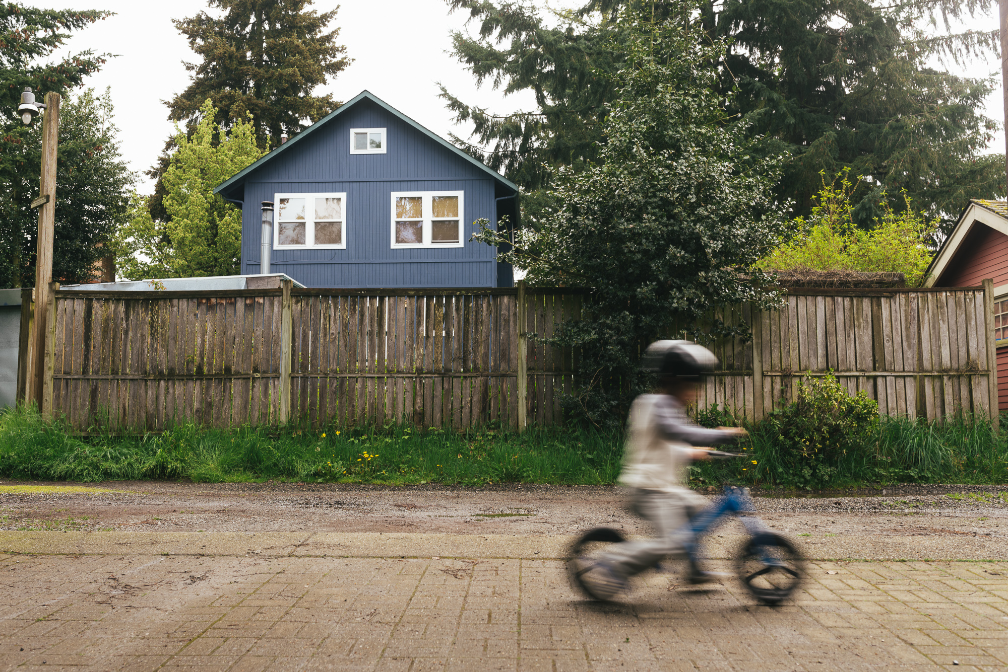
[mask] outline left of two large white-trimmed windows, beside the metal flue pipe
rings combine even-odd
[[[275,194],[273,249],[347,246],[347,194]]]

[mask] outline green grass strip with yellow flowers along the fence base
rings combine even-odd
[[[731,417],[701,417],[725,425]],[[97,482],[184,479],[204,483],[305,481],[460,484],[607,485],[622,462],[622,434],[591,429],[533,428],[516,434],[401,426],[356,429],[200,429],[180,425],[161,435],[75,437],[32,408],[0,412],[0,477]],[[723,482],[782,489],[847,488],[892,483],[1008,483],[1008,435],[990,423],[943,424],[882,418],[843,453],[814,470],[775,436],[772,423],[750,426],[738,447],[747,456],[698,463],[694,486]],[[15,486],[19,487],[19,486]],[[83,491],[95,492],[84,488]],[[0,492],[4,490],[0,489]]]

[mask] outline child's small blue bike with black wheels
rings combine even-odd
[[[711,451],[711,457],[727,459],[739,456]],[[801,583],[805,559],[790,539],[767,529],[755,515],[739,515],[752,514],[754,511],[749,488],[739,489],[726,484],[725,497],[697,514],[676,534],[688,533],[687,538],[692,541],[686,544],[686,552],[696,557],[699,540],[706,532],[722,518],[738,516],[749,533],[749,538],[735,560],[736,573],[756,600],[764,605],[779,605]],[[604,551],[610,544],[625,540],[618,530],[610,527],[596,527],[585,532],[571,547],[568,558],[568,570],[575,586],[591,597],[581,575],[591,568],[592,556]],[[660,568],[660,565],[656,567]]]

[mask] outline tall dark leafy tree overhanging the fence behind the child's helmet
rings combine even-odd
[[[683,3],[683,11],[690,5]],[[482,220],[477,239],[533,285],[591,287],[580,321],[560,325],[557,345],[582,351],[572,408],[594,423],[621,422],[643,389],[642,344],[678,321],[691,333],[748,335],[712,321],[713,308],[769,305],[766,276],[750,267],[784,235],[773,195],[779,161],[752,154],[744,124],[725,126],[717,72],[724,42],[696,27],[627,16],[624,68],[603,125],[596,162],[558,171],[555,207],[508,249]]]

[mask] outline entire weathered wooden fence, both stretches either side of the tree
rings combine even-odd
[[[528,338],[581,316],[584,292],[67,292],[48,305],[43,410],[77,431],[296,422],[524,428],[560,419],[576,353]],[[883,414],[988,414],[997,399],[991,287],[796,290],[780,310],[724,311],[699,404],[750,419],[834,371]],[[30,319],[31,309],[23,316]],[[24,325],[22,325],[24,327]],[[29,331],[22,328],[22,332]],[[22,339],[22,357],[27,339]],[[26,357],[25,357],[26,359]],[[23,380],[19,382],[23,395]]]

